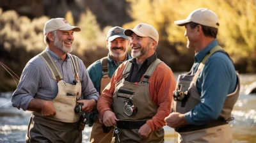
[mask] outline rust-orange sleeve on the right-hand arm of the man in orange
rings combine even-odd
[[[156,115],[147,121],[152,131],[165,125],[164,118],[170,114],[172,93],[176,86],[175,77],[169,67],[156,68],[154,72],[157,75],[156,79],[150,82],[154,83],[150,86],[150,96],[158,109]]]

